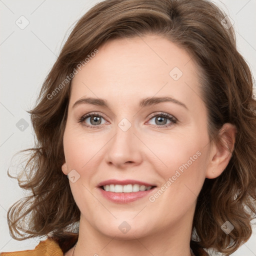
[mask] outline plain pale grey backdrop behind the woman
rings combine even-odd
[[[0,0],[0,251],[33,249],[38,244],[35,238],[17,241],[9,235],[7,209],[24,193],[17,181],[7,176],[7,168],[14,153],[33,145],[26,110],[34,105],[74,23],[97,2]],[[214,2],[234,21],[238,50],[255,76],[256,0]],[[251,238],[232,255],[255,256],[255,241],[254,226]]]

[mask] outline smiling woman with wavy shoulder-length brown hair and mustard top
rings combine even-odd
[[[32,193],[8,211],[13,237],[47,239],[1,256],[229,255],[249,239],[256,103],[229,24],[206,0],[107,0],[77,22],[30,111]]]

